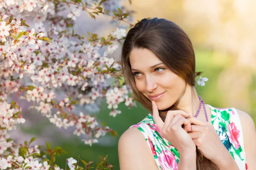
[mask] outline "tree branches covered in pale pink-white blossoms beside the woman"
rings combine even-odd
[[[101,14],[132,26],[126,21],[129,12],[124,13],[118,3],[117,0],[0,1],[0,169],[60,169],[54,162],[55,155],[64,152],[61,148],[50,149],[48,143],[46,147],[31,146],[35,138],[24,144],[9,138],[15,125],[25,123],[20,99],[32,103],[29,108],[36,109],[57,127],[76,127],[73,133],[83,135],[85,144],[98,142],[106,133],[116,135],[105,123],[99,124],[95,116],[76,113],[75,108],[105,98],[110,115],[116,116],[121,113],[117,110],[120,103],[134,106],[120,81],[120,63],[110,57],[126,31],[117,28],[107,37],[93,33],[85,36],[76,34],[73,26],[81,11],[87,11],[93,19]],[[69,14],[64,15],[63,10],[69,10]],[[34,28],[23,18],[33,18]],[[102,48],[105,52],[100,54]],[[113,83],[108,83],[108,79]],[[13,94],[20,99],[12,101]],[[67,165],[72,170],[92,168],[92,162],[81,161],[83,166],[69,158]],[[105,157],[95,168],[112,169],[112,165]]]

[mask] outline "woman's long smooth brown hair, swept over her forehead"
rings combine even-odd
[[[130,53],[134,48],[146,48],[153,52],[172,72],[195,86],[195,52],[187,34],[175,23],[165,19],[143,19],[131,28],[122,46],[122,70],[125,82],[133,91],[133,97],[152,112],[151,101],[138,91],[131,71]],[[129,87],[128,87],[129,89]],[[164,121],[170,107],[159,111]],[[218,167],[197,149],[197,170],[218,170]]]

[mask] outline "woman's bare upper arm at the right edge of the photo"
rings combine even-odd
[[[244,134],[244,149],[248,170],[256,167],[256,130],[253,119],[245,112],[237,109]]]

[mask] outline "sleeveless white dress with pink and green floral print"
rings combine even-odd
[[[221,142],[235,159],[239,170],[247,170],[243,132],[236,109],[208,106],[211,108],[212,125]],[[160,134],[151,113],[131,127],[137,127],[143,133],[159,170],[177,170],[179,152]]]

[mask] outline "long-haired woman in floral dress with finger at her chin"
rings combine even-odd
[[[141,20],[123,44],[122,68],[152,114],[120,137],[121,170],[256,169],[253,120],[235,108],[204,104],[195,91],[192,43],[179,26]]]

